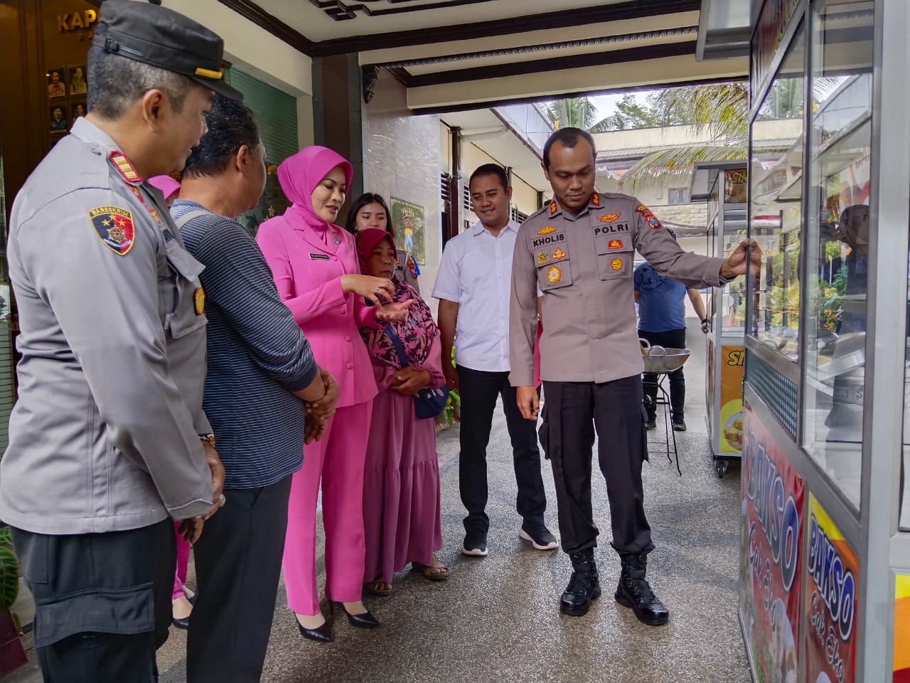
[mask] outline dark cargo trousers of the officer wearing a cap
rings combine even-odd
[[[13,529],[35,596],[35,655],[45,683],[154,683],[167,640],[177,561],[174,523],[107,534]]]

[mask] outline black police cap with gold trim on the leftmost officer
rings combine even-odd
[[[174,10],[136,0],[106,0],[95,31],[105,52],[183,74],[230,99],[243,94],[227,85],[224,40]]]

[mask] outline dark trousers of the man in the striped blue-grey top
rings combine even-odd
[[[262,675],[288,528],[290,475],[225,489],[193,546],[197,598],[189,617],[188,683],[254,683]],[[173,580],[172,580],[173,584]]]

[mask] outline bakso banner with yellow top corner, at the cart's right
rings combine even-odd
[[[853,683],[859,563],[809,494],[805,558],[805,683]]]

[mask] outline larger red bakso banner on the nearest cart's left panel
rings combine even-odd
[[[799,671],[805,484],[743,402],[740,616],[753,679],[785,683]]]

